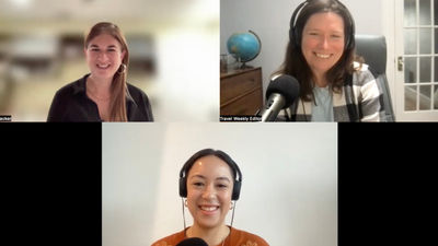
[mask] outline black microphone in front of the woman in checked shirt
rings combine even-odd
[[[266,90],[266,105],[262,108],[262,121],[275,121],[278,113],[292,105],[300,93],[300,84],[291,75],[279,75]]]

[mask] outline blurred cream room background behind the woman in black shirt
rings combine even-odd
[[[217,0],[0,0],[0,115],[45,121],[56,91],[89,72],[83,37],[101,21],[125,34],[128,82],[155,121],[217,121]]]

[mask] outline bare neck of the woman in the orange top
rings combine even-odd
[[[214,229],[206,229],[194,224],[186,232],[187,237],[200,237],[209,246],[221,244],[230,234],[230,229],[227,225],[220,225]]]

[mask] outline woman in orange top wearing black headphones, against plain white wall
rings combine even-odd
[[[194,224],[186,227],[184,218],[182,232],[152,246],[174,246],[191,237],[199,237],[209,246],[267,246],[262,237],[232,227],[233,219],[230,226],[224,223],[239,199],[241,181],[239,166],[224,152],[205,149],[195,153],[180,172],[180,196],[186,198],[183,206],[188,208]]]

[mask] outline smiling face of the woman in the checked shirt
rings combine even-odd
[[[342,16],[333,12],[310,16],[302,31],[301,44],[302,54],[312,72],[318,77],[324,75],[344,52]]]

